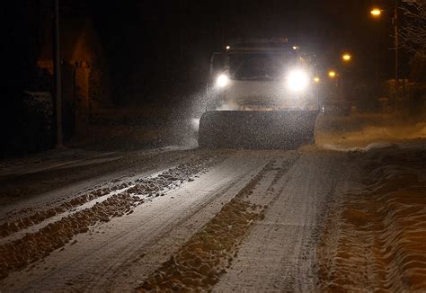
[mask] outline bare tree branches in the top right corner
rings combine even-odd
[[[403,0],[401,44],[414,58],[426,60],[426,0]]]

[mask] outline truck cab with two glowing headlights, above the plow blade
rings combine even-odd
[[[228,46],[217,70],[216,109],[317,110],[315,65],[284,41],[256,40]]]

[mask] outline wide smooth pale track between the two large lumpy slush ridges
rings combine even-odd
[[[131,215],[75,236],[75,244],[53,252],[27,271],[12,273],[0,281],[0,288],[132,291],[138,280],[213,218],[270,157],[268,152],[237,152],[194,182],[146,202]]]

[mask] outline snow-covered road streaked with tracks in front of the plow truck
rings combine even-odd
[[[334,222],[353,205],[343,193],[366,192],[354,170],[387,158],[363,154],[194,149],[131,170],[107,162],[111,173],[0,209],[0,291],[328,290],[324,268],[348,265],[334,262],[336,238],[356,240]]]

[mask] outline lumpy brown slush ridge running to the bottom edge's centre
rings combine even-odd
[[[290,160],[267,164],[209,223],[183,244],[139,287],[146,291],[209,291],[237,255],[237,246],[253,225],[264,218],[273,185],[280,180]],[[285,164],[283,164],[285,163]]]

